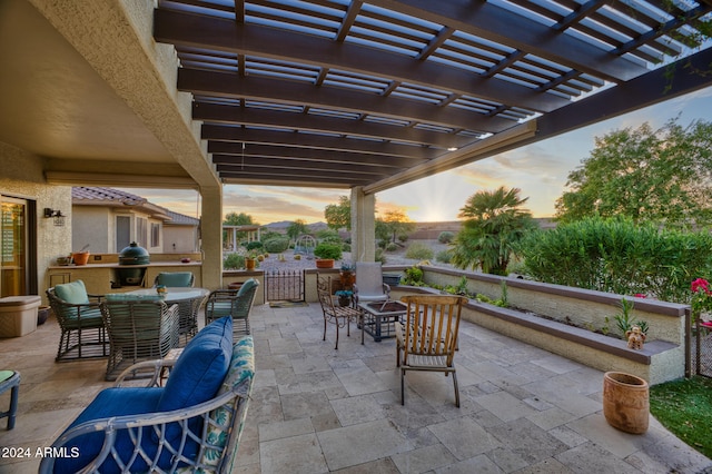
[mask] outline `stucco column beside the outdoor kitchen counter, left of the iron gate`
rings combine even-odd
[[[222,188],[200,190],[200,238],[202,243],[202,287],[222,287]]]

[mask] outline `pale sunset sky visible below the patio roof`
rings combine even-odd
[[[693,120],[712,120],[712,88],[378,192],[377,210],[400,208],[414,221],[456,220],[469,196],[504,186],[521,188],[521,196],[530,198],[527,207],[535,217],[551,217],[568,172],[590,155],[595,137],[614,129],[636,128],[645,121],[660,127],[676,116],[683,126]],[[195,191],[126,190],[176,213],[199,217]],[[222,216],[236,211],[249,214],[263,225],[295,219],[310,224],[323,221],[324,208],[348,195],[347,189],[226,185]]]

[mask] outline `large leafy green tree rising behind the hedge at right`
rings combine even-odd
[[[596,137],[595,149],[568,174],[556,217],[626,216],[666,226],[712,223],[712,124],[670,120]]]

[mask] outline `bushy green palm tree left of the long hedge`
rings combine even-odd
[[[536,228],[531,213],[522,209],[527,200],[520,198],[520,189],[504,187],[467,198],[458,215],[466,220],[451,245],[453,265],[506,275],[516,244]]]

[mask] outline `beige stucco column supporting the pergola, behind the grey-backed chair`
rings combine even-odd
[[[364,194],[362,187],[352,188],[352,259],[376,259],[376,197]]]

